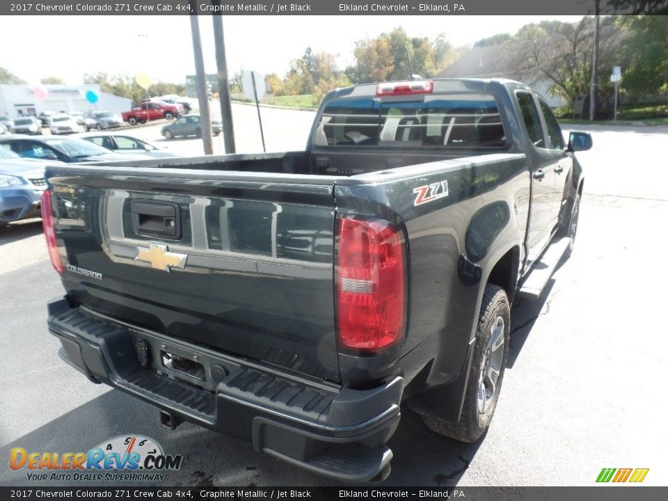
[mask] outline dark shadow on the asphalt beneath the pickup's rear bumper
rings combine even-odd
[[[77,377],[73,375],[72,377]],[[81,381],[82,384],[89,384]],[[234,419],[234,416],[230,416]],[[12,443],[0,447],[8,459],[13,447],[30,452],[86,452],[118,436],[147,436],[157,441],[166,454],[181,454],[182,468],[166,472],[159,481],[123,482],[51,479],[64,470],[0,469],[0,485],[12,486],[340,486],[353,484],[313,475],[253,450],[250,443],[194,424],[184,423],[170,431],[158,422],[157,409],[124,393],[111,390],[72,411],[56,417]],[[0,437],[1,438],[1,437]],[[420,417],[402,408],[399,429],[390,440],[394,452],[392,474],[378,485],[455,485],[477,452],[479,444],[463,444],[438,436],[422,424]],[[29,481],[27,473],[47,473],[44,482]],[[111,473],[119,471],[111,470]],[[73,472],[69,472],[73,473]],[[91,473],[84,470],[80,473]],[[363,484],[372,486],[376,484]]]

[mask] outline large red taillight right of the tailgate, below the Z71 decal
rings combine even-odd
[[[401,229],[379,219],[337,220],[337,331],[341,347],[379,351],[404,336]]]

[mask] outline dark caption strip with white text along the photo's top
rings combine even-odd
[[[668,0],[41,0],[0,15],[591,15],[668,14]]]

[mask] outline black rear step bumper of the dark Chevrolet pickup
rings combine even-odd
[[[48,324],[65,362],[157,406],[171,423],[248,440],[259,452],[348,482],[389,473],[385,444],[399,424],[400,377],[371,390],[340,388],[70,308],[63,298],[49,303]],[[167,367],[163,353],[196,361],[198,371]]]

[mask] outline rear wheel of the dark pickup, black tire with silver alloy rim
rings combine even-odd
[[[499,324],[499,319],[502,320],[502,324]],[[459,422],[451,423],[431,416],[422,416],[424,424],[432,431],[467,443],[478,440],[489,427],[499,399],[508,359],[510,303],[506,292],[498,285],[488,284],[485,287],[475,337],[473,360]],[[498,346],[498,340],[501,338],[503,339],[502,347]],[[496,342],[493,342],[494,339]],[[493,344],[497,346],[496,350],[491,349]],[[501,353],[495,357],[493,353],[495,351],[498,353],[498,350],[501,350]],[[490,367],[494,368],[492,363],[495,358],[500,359],[500,365],[493,385],[493,393],[489,395],[485,383],[486,381],[491,382],[491,379],[484,376],[488,374]]]

